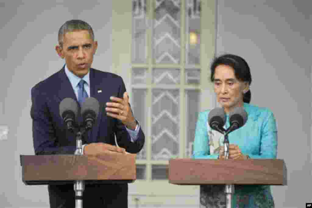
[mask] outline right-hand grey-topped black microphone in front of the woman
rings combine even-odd
[[[241,128],[245,125],[248,115],[244,108],[236,107],[229,114],[230,127],[227,129],[227,134]]]

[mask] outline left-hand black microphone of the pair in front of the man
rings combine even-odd
[[[67,130],[73,132],[76,125],[76,117],[78,113],[78,103],[72,98],[66,97],[59,106],[60,116],[66,124]]]

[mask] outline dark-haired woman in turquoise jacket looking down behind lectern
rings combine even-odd
[[[251,73],[248,64],[240,56],[225,54],[216,58],[211,65],[211,81],[214,83],[217,102],[226,112],[224,128],[229,127],[228,114],[235,107],[243,107],[248,119],[244,126],[231,132],[229,159],[273,159],[277,151],[277,129],[273,113],[249,104],[251,99]],[[208,111],[199,113],[193,158],[224,158],[223,135],[212,130]],[[206,189],[206,190],[204,190]],[[225,207],[224,186],[201,186],[201,204],[204,207]],[[232,197],[234,207],[274,207],[270,186],[235,186]]]

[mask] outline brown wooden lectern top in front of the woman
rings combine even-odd
[[[179,185],[287,185],[286,176],[286,166],[281,159],[169,161],[169,183]]]

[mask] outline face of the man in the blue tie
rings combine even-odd
[[[66,62],[67,68],[76,76],[85,76],[93,62],[97,41],[93,41],[87,30],[65,33],[63,46],[56,46],[59,56]]]

